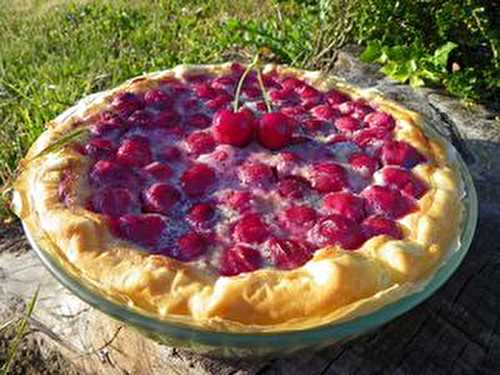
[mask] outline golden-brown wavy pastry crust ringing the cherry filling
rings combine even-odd
[[[404,239],[376,236],[357,251],[338,246],[315,252],[293,270],[264,268],[223,277],[174,259],[150,255],[108,230],[102,215],[83,208],[90,194],[89,160],[70,147],[38,155],[64,134],[86,126],[121,91],[142,92],[167,77],[186,73],[223,74],[230,64],[179,66],[134,78],[116,89],[92,95],[47,125],[21,162],[14,209],[44,250],[69,272],[96,286],[107,298],[159,319],[204,329],[258,332],[304,329],[370,313],[420,290],[457,248],[463,188],[453,154],[424,134],[421,117],[373,90],[361,90],[320,72],[266,65],[292,74],[320,90],[337,88],[364,98],[398,121],[396,139],[404,139],[429,160],[413,172],[429,186],[419,209],[398,222]],[[58,186],[68,167],[77,192],[68,208]]]

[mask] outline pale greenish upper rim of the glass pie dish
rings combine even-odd
[[[251,343],[270,344],[286,346],[290,339],[298,339],[304,344],[318,343],[332,337],[344,338],[365,332],[371,328],[381,326],[398,316],[410,311],[420,303],[434,294],[451,277],[461,264],[463,258],[470,248],[474,237],[478,219],[478,199],[474,187],[473,178],[455,147],[444,139],[443,136],[428,124],[424,125],[426,132],[443,142],[456,159],[457,170],[463,181],[464,196],[462,202],[465,206],[462,232],[460,233],[460,244],[446,263],[439,267],[432,279],[425,285],[423,290],[412,293],[397,301],[394,301],[369,314],[347,320],[340,323],[329,323],[302,330],[273,331],[273,332],[224,332],[203,329],[201,327],[189,326],[168,320],[156,319],[153,316],[143,314],[139,310],[132,309],[126,305],[114,302],[102,295],[92,291],[91,287],[84,285],[80,280],[62,266],[58,259],[49,252],[44,251],[35,241],[34,236],[22,223],[24,232],[32,248],[41,259],[44,266],[50,271],[55,279],[70,290],[78,298],[96,308],[99,311],[112,316],[115,319],[131,324],[155,334],[166,335],[179,339],[195,339],[200,343],[208,345],[234,345],[246,346]],[[287,340],[283,340],[287,339]]]

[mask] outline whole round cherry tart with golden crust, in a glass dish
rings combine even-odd
[[[15,211],[82,281],[204,328],[301,329],[418,290],[458,241],[450,150],[373,90],[244,71],[179,66],[84,99],[22,161]]]

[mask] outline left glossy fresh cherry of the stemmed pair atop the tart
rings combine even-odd
[[[253,138],[253,115],[247,111],[218,111],[213,119],[214,139],[221,144],[245,147]]]

